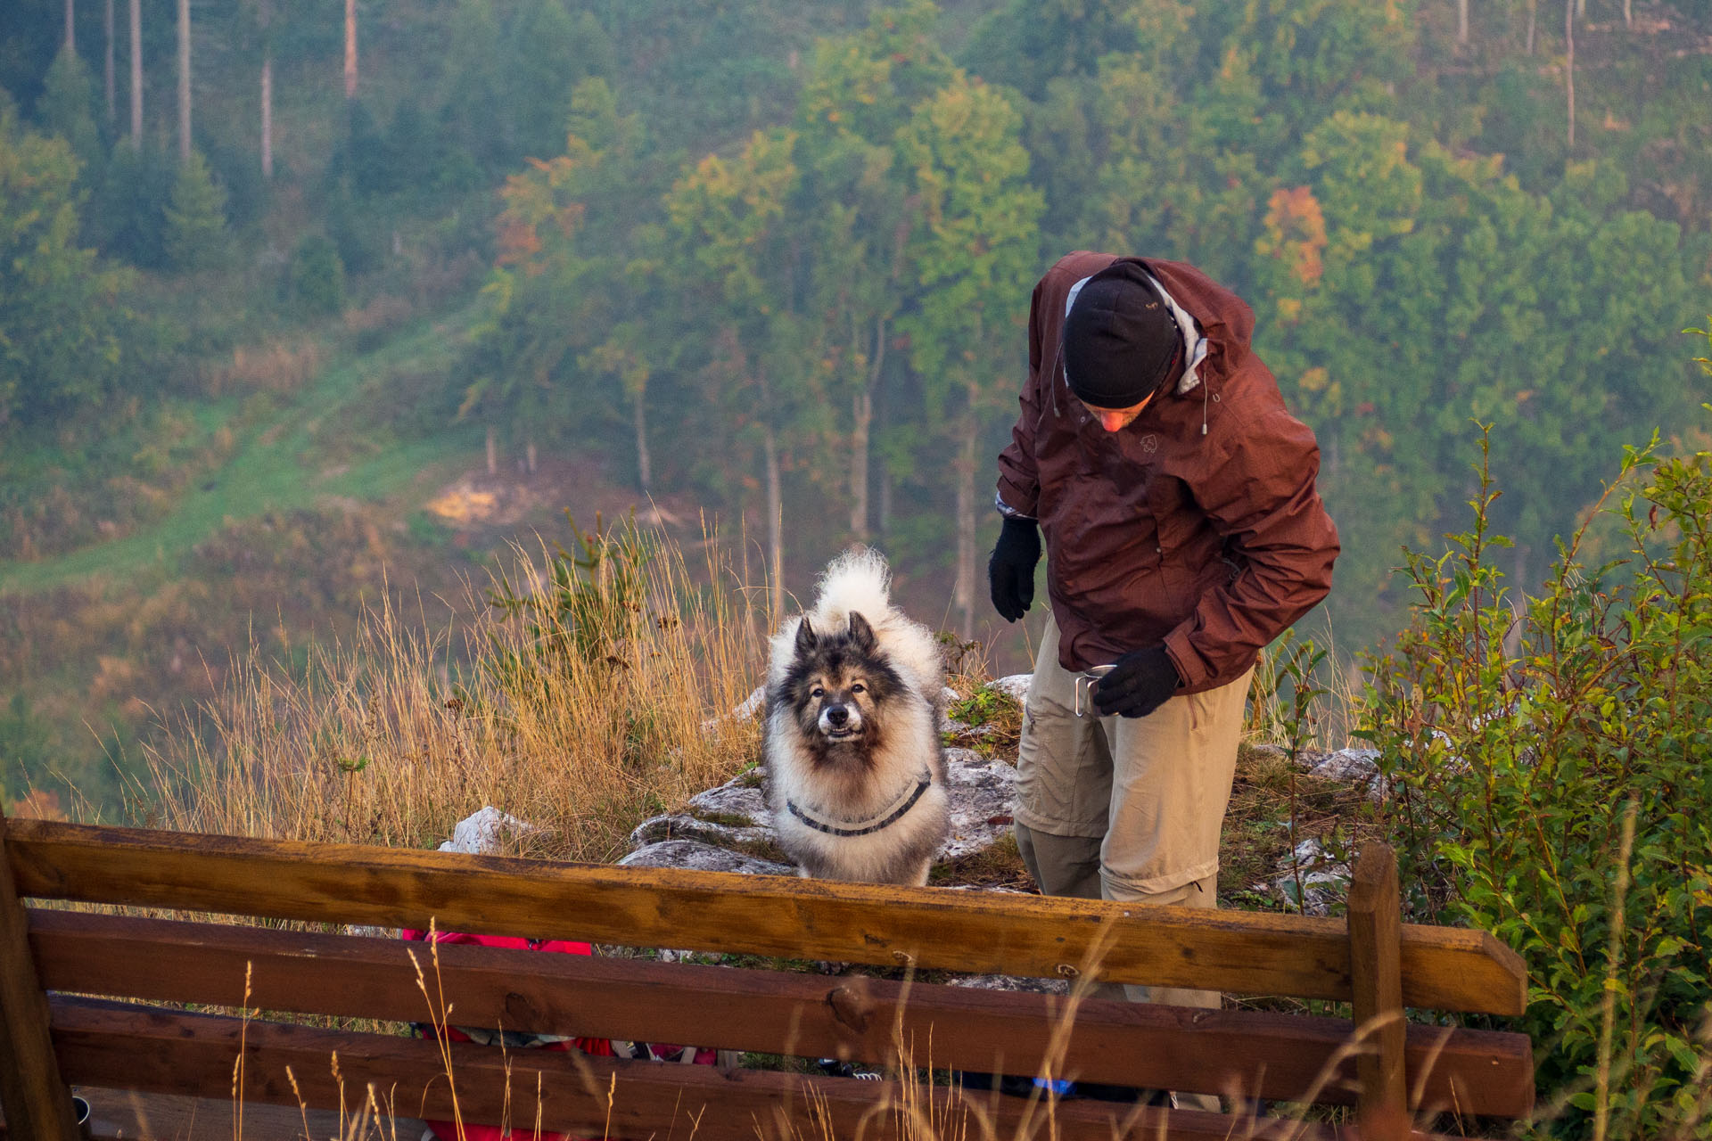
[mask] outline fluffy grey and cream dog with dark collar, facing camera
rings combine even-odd
[[[950,835],[945,671],[889,587],[885,558],[854,547],[772,640],[767,802],[803,876],[924,884]]]

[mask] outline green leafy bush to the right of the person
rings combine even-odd
[[[1411,553],[1411,626],[1359,736],[1421,920],[1529,967],[1544,1136],[1705,1136],[1712,1037],[1712,453],[1630,448],[1537,594],[1472,530]],[[1589,525],[1630,549],[1584,561]],[[1632,833],[1632,835],[1630,835]]]

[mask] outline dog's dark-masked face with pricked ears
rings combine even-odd
[[[784,695],[817,763],[866,761],[883,737],[885,703],[901,691],[861,614],[853,612],[849,628],[834,635],[817,633],[806,618],[796,628]]]

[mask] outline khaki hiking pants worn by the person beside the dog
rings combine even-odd
[[[1044,895],[1217,907],[1219,833],[1231,801],[1253,671],[1171,698],[1147,717],[1077,717],[1075,674],[1048,618],[1017,754],[1017,848]],[[1219,1008],[1217,990],[1103,984],[1094,997]],[[1217,1098],[1180,1103],[1217,1110]]]

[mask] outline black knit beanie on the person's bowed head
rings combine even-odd
[[[1126,409],[1164,388],[1181,349],[1171,306],[1132,262],[1091,277],[1065,316],[1065,378],[1097,409]]]

